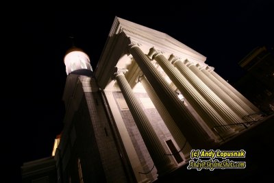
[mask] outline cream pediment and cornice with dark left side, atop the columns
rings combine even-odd
[[[189,58],[195,62],[206,61],[205,56],[175,40],[175,38],[116,16],[95,69],[95,78],[100,88],[107,86],[113,75],[113,68],[119,59],[125,54],[129,55],[129,47],[140,45],[143,49],[156,47],[166,54],[173,53],[180,58]]]

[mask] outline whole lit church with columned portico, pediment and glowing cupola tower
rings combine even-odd
[[[118,17],[95,71],[84,51],[69,49],[64,129],[53,149],[58,182],[153,182],[184,166],[191,149],[246,130],[260,111],[205,61]]]

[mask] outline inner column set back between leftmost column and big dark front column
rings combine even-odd
[[[179,146],[180,149],[183,148],[182,153],[184,154],[186,158],[189,158],[191,147],[189,143],[186,141],[186,137],[184,137],[182,132],[177,127],[176,123],[173,121],[171,115],[166,110],[166,108],[164,107],[164,104],[161,102],[160,98],[157,96],[157,94],[153,90],[151,84],[149,84],[149,81],[147,80],[145,75],[141,73],[138,80],[141,82],[142,86],[147,91],[149,98],[153,102],[155,108],[158,110],[160,116],[162,117],[164,123],[166,124],[166,127],[169,129],[169,132],[171,132],[171,135],[173,136],[177,145]]]

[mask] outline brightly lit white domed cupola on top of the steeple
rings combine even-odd
[[[66,74],[92,75],[93,70],[90,65],[90,58],[82,49],[71,47],[64,56]]]

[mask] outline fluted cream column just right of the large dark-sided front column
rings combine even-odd
[[[184,77],[174,66],[166,60],[166,58],[160,53],[156,51],[154,48],[151,48],[150,51],[151,56],[155,59],[158,64],[165,71],[166,75],[169,76],[173,84],[177,86],[177,88],[181,91],[181,93],[186,97],[187,101],[195,108],[195,110],[200,114],[203,121],[206,121],[210,127],[218,126],[218,125],[227,125],[225,119],[220,116],[216,110],[210,106],[210,103],[204,99],[203,96],[196,90],[195,87],[186,80]],[[193,78],[191,78],[192,80]],[[230,130],[229,126],[220,127],[220,132],[227,133],[225,131]]]

